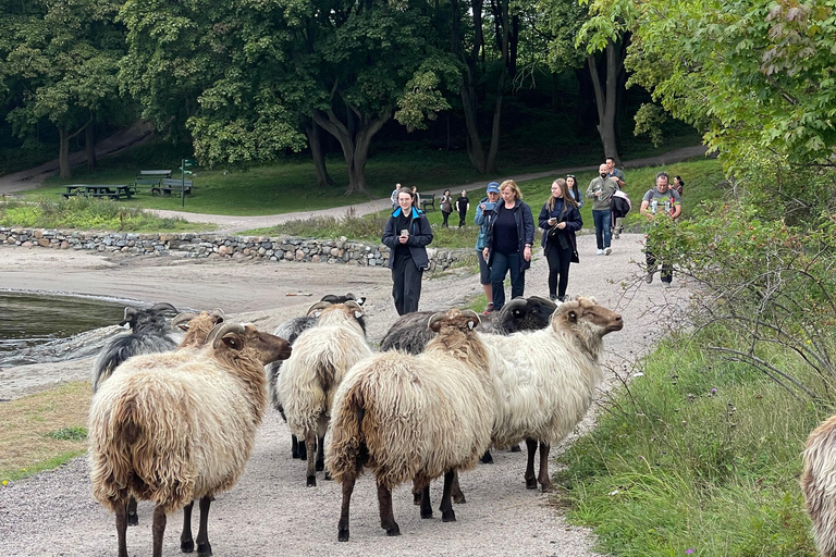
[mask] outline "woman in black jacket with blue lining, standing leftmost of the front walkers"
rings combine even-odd
[[[398,315],[418,311],[421,276],[429,267],[427,246],[432,242],[432,228],[427,215],[413,203],[413,193],[401,188],[398,208],[392,212],[380,240],[389,247],[392,270],[392,297]]]

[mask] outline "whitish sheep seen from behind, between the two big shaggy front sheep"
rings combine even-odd
[[[308,309],[311,313],[318,318],[317,326],[296,338],[294,355],[282,364],[276,387],[291,432],[305,440],[306,482],[315,487],[316,472],[324,470],[322,443],[334,391],[352,366],[371,356],[371,348],[359,322],[362,309],[357,302],[319,301]]]

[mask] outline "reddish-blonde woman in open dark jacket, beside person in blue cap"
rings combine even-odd
[[[511,297],[522,296],[526,270],[531,267],[531,245],[534,242],[534,219],[531,208],[522,201],[519,187],[513,180],[500,185],[502,201],[496,205],[484,238],[484,256],[491,268],[493,309],[505,305],[505,275],[511,271]]]

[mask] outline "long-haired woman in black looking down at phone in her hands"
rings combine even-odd
[[[543,253],[549,262],[549,299],[560,301],[566,301],[569,263],[579,262],[575,233],[583,227],[578,203],[566,191],[566,181],[555,180],[552,195],[543,203],[538,219],[543,230]]]

